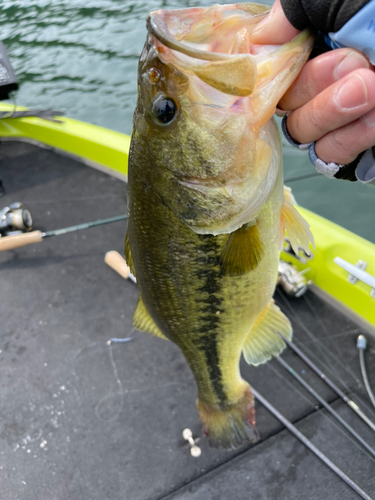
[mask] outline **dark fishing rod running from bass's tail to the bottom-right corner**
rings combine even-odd
[[[252,391],[256,399],[272,413],[292,434],[294,434],[310,451],[312,451],[320,460],[327,465],[337,476],[348,484],[364,500],[373,500],[353,479],[345,474],[330,458],[327,457],[315,444],[310,441],[295,425],[292,424],[282,413],[280,413],[267,399],[265,399],[254,387]]]

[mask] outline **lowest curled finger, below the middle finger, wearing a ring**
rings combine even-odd
[[[325,163],[347,165],[374,145],[375,108],[355,122],[325,135],[315,144],[315,152]]]

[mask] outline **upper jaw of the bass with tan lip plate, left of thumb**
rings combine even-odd
[[[149,15],[146,26],[151,36],[177,56],[180,67],[189,67],[201,80],[225,94],[244,97],[254,90],[257,64],[246,50],[232,53],[229,42],[241,27],[250,33],[269,9],[254,6],[254,10],[251,4],[243,5],[158,10]],[[218,45],[221,32],[228,43]]]

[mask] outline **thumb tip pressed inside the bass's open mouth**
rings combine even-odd
[[[281,45],[293,40],[298,33],[285,17],[280,0],[276,0],[268,16],[251,33],[250,41],[259,45]]]

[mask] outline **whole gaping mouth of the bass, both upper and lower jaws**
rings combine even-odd
[[[280,79],[288,81],[288,85],[278,82],[279,90],[272,86],[276,104],[292,82],[289,83],[288,73],[293,73],[304,59],[301,54],[310,53],[313,37],[304,30],[292,42],[281,46],[252,44],[250,35],[268,12],[269,7],[250,3],[158,10],[151,12],[146,26],[162,62],[177,67],[188,77],[198,77],[221,95],[251,98],[282,73]],[[270,107],[265,94],[269,94],[268,88],[257,107],[264,101]],[[270,116],[265,118],[268,120]]]

